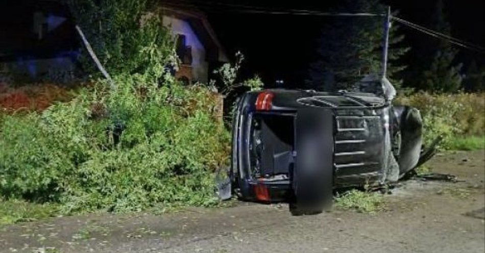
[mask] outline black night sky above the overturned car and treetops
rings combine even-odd
[[[211,1],[208,1],[211,2]],[[328,11],[338,1],[216,1],[219,3],[243,4],[275,9],[308,9]],[[314,3],[318,2],[318,3]],[[435,7],[434,0],[387,0],[383,1],[393,10],[399,10],[399,17],[426,24]],[[207,3],[207,2],[206,2]],[[483,0],[445,0],[445,15],[451,24],[451,35],[485,46],[485,1]],[[207,4],[206,4],[207,5]],[[217,6],[217,5],[214,5]],[[317,41],[322,24],[333,17],[311,17],[292,15],[248,14],[237,11],[225,11],[223,7],[204,10],[217,35],[226,47],[229,55],[241,50],[246,56],[243,68],[245,78],[257,73],[266,84],[283,79],[286,83],[297,85],[303,82],[308,64],[316,59]],[[419,46],[423,41],[437,40],[425,34],[405,27],[401,33],[406,35],[404,43],[411,50],[402,59],[403,64],[410,65],[420,60]],[[461,49],[457,62],[464,63],[464,69],[475,60],[478,65],[485,64],[485,55],[467,49]],[[409,73],[408,73],[409,74]]]

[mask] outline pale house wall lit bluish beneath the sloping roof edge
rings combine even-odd
[[[163,16],[163,25],[170,28],[174,35],[182,34],[186,37],[187,46],[192,50],[192,78],[193,80],[207,83],[209,65],[206,61],[206,50],[204,45],[193,32],[187,21],[173,16]]]

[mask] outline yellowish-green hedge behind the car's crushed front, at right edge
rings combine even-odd
[[[396,104],[416,107],[424,121],[425,144],[442,135],[442,146],[450,148],[453,136],[482,136],[485,129],[485,93],[401,96]]]

